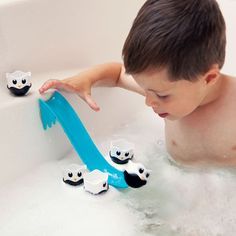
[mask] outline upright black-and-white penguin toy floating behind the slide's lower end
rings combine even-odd
[[[126,164],[134,157],[134,145],[124,139],[111,142],[110,158],[116,164]]]

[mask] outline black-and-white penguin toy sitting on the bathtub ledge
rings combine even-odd
[[[6,73],[7,88],[16,96],[24,96],[31,88],[31,72]]]

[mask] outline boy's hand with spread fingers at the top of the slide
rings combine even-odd
[[[70,93],[78,94],[94,111],[99,111],[100,108],[96,104],[96,102],[91,97],[91,85],[85,83],[84,85],[81,83],[75,84],[76,78],[68,78],[65,80],[48,80],[46,81],[41,88],[39,89],[39,93],[43,94],[49,89],[57,89],[61,91],[66,91]]]

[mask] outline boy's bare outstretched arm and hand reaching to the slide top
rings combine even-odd
[[[39,92],[43,94],[48,89],[54,88],[77,93],[93,110],[98,111],[99,107],[91,97],[91,88],[94,86],[121,87],[144,95],[144,91],[134,79],[125,74],[121,63],[98,65],[63,80],[48,80],[41,86]]]

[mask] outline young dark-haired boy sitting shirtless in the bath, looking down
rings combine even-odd
[[[225,44],[225,22],[215,0],[147,0],[124,44],[124,66],[98,65],[49,80],[39,91],[77,93],[95,111],[92,87],[135,91],[165,119],[174,160],[236,165],[236,80],[220,73]]]

